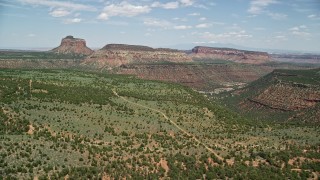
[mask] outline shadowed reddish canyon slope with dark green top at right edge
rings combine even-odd
[[[224,100],[257,119],[320,123],[319,72],[276,69]]]

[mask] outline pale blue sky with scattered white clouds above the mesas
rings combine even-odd
[[[320,52],[320,0],[0,0],[0,48],[218,44]]]

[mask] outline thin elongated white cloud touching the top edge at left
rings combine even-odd
[[[71,10],[83,10],[83,11],[96,11],[96,8],[89,5],[65,2],[65,1],[54,1],[54,0],[18,0],[24,4],[30,4],[34,6],[48,6],[51,8],[67,8]]]

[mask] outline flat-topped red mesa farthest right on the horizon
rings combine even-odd
[[[194,59],[223,59],[237,63],[262,64],[270,61],[266,52],[244,51],[230,48],[196,46],[190,56]]]

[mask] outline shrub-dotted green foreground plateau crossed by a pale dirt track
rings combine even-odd
[[[173,83],[0,70],[0,107],[5,179],[306,179],[319,173],[318,125],[247,120]]]

